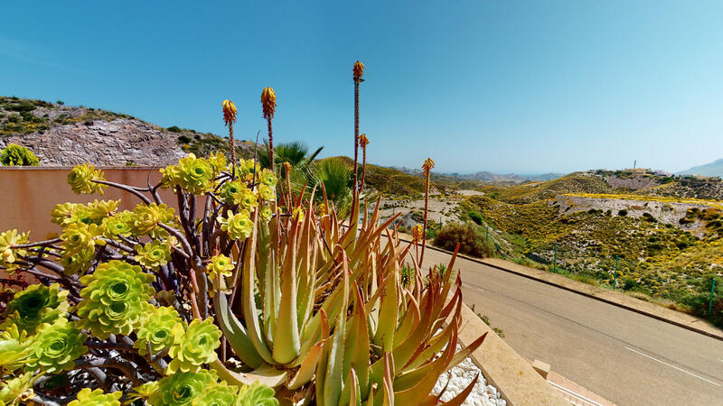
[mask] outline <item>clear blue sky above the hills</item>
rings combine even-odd
[[[352,155],[539,173],[723,158],[723,2],[3,2],[0,94]],[[263,131],[261,134],[265,134]]]

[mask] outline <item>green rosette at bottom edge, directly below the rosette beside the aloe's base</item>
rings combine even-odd
[[[207,370],[172,374],[158,381],[158,388],[148,401],[154,406],[191,405],[217,380],[216,373]]]

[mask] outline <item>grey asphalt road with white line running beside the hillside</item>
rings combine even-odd
[[[427,249],[425,264],[449,254]],[[457,258],[463,300],[519,354],[618,405],[723,405],[723,341]],[[483,345],[484,347],[484,345]]]

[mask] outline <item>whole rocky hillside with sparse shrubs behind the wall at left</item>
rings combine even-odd
[[[163,128],[130,115],[61,102],[0,97],[0,149],[8,143],[29,148],[42,166],[164,166],[186,152],[228,152],[226,142],[214,134]],[[239,144],[239,155],[246,155],[249,145]]]

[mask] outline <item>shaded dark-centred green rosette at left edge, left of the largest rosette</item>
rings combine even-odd
[[[5,309],[5,321],[0,329],[17,326],[19,330],[35,334],[41,324],[52,324],[64,317],[70,307],[66,298],[68,291],[61,291],[61,285],[31,285],[15,294]]]

